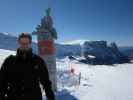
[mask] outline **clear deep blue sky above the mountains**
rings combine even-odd
[[[0,0],[0,32],[32,32],[52,8],[56,42],[107,40],[133,46],[133,0]]]

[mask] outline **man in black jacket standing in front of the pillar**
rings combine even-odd
[[[22,33],[16,56],[8,56],[0,69],[0,100],[42,100],[40,83],[48,100],[55,100],[44,60],[34,54],[32,38]]]

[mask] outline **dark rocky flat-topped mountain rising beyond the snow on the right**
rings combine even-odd
[[[82,49],[87,63],[115,64],[129,62],[128,57],[119,51],[116,43],[108,45],[107,41],[86,41]],[[94,56],[93,59],[90,55]]]

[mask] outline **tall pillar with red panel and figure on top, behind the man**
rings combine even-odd
[[[48,67],[52,88],[57,91],[56,78],[56,56],[54,40],[57,39],[57,32],[53,27],[53,20],[50,16],[51,9],[46,9],[46,16],[41,20],[41,24],[36,27],[32,34],[37,35],[38,54],[42,57]]]

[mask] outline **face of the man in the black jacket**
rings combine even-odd
[[[30,48],[31,47],[31,43],[30,43],[30,40],[29,40],[29,38],[21,38],[20,40],[19,40],[19,45],[20,45],[20,48],[22,48],[22,49],[28,49],[28,48]]]

